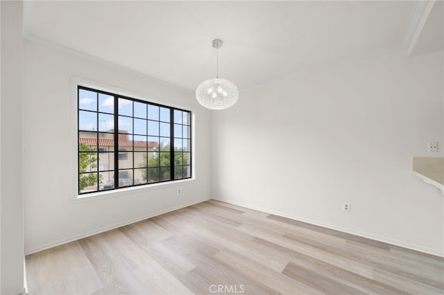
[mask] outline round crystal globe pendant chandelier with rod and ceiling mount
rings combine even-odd
[[[219,48],[222,44],[219,39],[212,41],[213,48],[216,48],[216,78],[200,83],[196,89],[197,101],[207,109],[227,109],[239,98],[236,85],[219,78]]]

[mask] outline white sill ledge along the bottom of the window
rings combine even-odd
[[[175,186],[183,186],[186,184],[191,184],[195,181],[196,179],[189,178],[176,181],[162,182],[159,184],[148,184],[146,186],[133,186],[129,188],[119,188],[117,190],[105,190],[103,192],[89,193],[85,195],[75,195],[74,197],[71,198],[71,201],[77,203],[77,202],[95,201],[97,199],[108,199],[112,197],[123,197],[127,195],[133,195],[136,193],[146,193],[146,192],[151,192],[153,190],[172,188]]]

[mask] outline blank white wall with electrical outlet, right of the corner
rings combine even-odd
[[[443,157],[443,52],[406,55],[268,84],[214,112],[212,196],[443,256],[444,196],[411,173],[411,157]]]

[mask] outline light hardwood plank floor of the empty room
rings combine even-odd
[[[29,294],[443,294],[444,258],[210,200],[26,256]]]

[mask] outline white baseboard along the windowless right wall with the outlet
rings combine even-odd
[[[216,198],[213,197],[212,199],[216,199]],[[411,250],[415,250],[415,251],[420,251],[422,253],[432,254],[434,256],[439,256],[439,257],[443,257],[444,258],[444,251],[443,252],[436,251],[434,249],[428,249],[426,247],[421,247],[421,246],[418,246],[418,245],[415,245],[415,244],[409,244],[409,243],[406,243],[406,242],[402,242],[402,241],[398,241],[398,240],[393,240],[391,238],[381,237],[381,236],[378,236],[378,235],[371,235],[369,233],[363,233],[363,232],[360,232],[360,231],[355,231],[355,230],[352,230],[352,229],[347,229],[347,228],[344,228],[344,227],[341,227],[341,226],[334,226],[332,224],[326,224],[326,223],[323,223],[323,222],[317,222],[316,220],[309,220],[307,218],[302,218],[302,217],[299,217],[299,216],[289,215],[289,214],[278,212],[278,211],[272,211],[272,210],[268,210],[266,208],[250,206],[248,204],[244,204],[244,203],[241,203],[241,202],[233,201],[231,199],[216,199],[216,200],[221,201],[221,202],[227,202],[227,203],[230,203],[230,204],[233,204],[233,205],[237,205],[237,206],[242,206],[242,207],[250,208],[250,209],[253,209],[253,210],[257,210],[257,211],[262,211],[262,212],[273,214],[273,215],[279,215],[279,216],[282,216],[282,217],[287,217],[287,218],[290,218],[292,220],[298,220],[298,221],[301,221],[301,222],[307,222],[309,224],[323,226],[323,227],[325,227],[327,229],[334,229],[336,231],[342,231],[343,233],[351,233],[352,235],[359,235],[360,237],[363,237],[363,238],[368,238],[368,239],[371,239],[371,240],[377,240],[379,242],[393,244],[395,246],[399,246],[399,247],[403,247],[403,248],[407,248],[407,249],[411,249]]]

